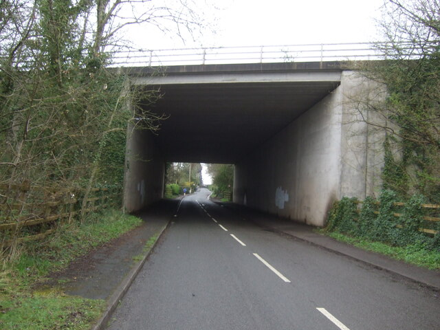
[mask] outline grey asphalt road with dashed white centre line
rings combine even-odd
[[[184,198],[107,329],[439,330],[439,293]]]

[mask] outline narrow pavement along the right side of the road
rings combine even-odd
[[[391,259],[382,254],[369,252],[356,248],[353,245],[336,241],[336,239],[332,239],[329,236],[314,232],[314,227],[310,225],[281,219],[272,214],[251,210],[232,203],[221,204],[225,208],[230,208],[231,210],[234,210],[234,212],[239,212],[244,219],[248,219],[263,228],[274,230],[274,232],[280,234],[287,234],[320,248],[325,248],[326,250],[372,265],[378,269],[391,272],[397,276],[403,276],[410,281],[415,281],[421,285],[440,290],[440,272],[437,270],[428,270],[426,268],[410,265],[404,261]]]

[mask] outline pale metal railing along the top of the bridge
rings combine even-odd
[[[380,47],[379,47],[380,48]],[[373,43],[320,43],[168,50],[130,50],[113,57],[115,67],[241,63],[364,61],[384,58]]]

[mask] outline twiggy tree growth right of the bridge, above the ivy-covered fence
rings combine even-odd
[[[440,203],[439,3],[385,1],[382,10],[388,43],[377,50],[386,60],[366,64],[364,74],[387,87],[384,102],[365,104],[386,119],[384,189]]]

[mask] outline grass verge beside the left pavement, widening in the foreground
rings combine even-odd
[[[89,214],[85,223],[61,225],[46,241],[25,243],[0,272],[0,329],[90,329],[105,308],[104,300],[66,296],[63,292],[34,291],[51,272],[111,241],[141,219],[116,210]]]

